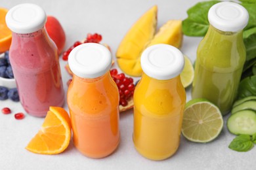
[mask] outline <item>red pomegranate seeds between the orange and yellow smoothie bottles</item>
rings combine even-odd
[[[124,73],[119,73],[117,69],[110,70],[110,75],[113,80],[116,82],[116,85],[119,90],[119,105],[123,107],[128,105],[129,99],[133,96],[135,90],[135,84],[133,84],[133,78],[125,76]]]

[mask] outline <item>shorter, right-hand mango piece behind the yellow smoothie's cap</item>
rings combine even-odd
[[[181,26],[181,20],[169,20],[160,27],[158,33],[156,33],[147,46],[152,46],[154,44],[169,44],[176,48],[180,48],[183,40]]]

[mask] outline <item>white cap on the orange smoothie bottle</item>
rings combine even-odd
[[[68,56],[71,71],[81,78],[96,78],[104,75],[111,67],[110,50],[98,43],[76,46]]]

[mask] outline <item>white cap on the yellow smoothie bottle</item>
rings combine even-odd
[[[184,56],[174,46],[156,44],[142,52],[140,63],[146,75],[158,80],[168,80],[181,73]]]

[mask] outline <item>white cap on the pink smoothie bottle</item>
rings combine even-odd
[[[15,33],[33,33],[41,29],[46,22],[45,11],[38,5],[23,3],[7,12],[7,26]]]

